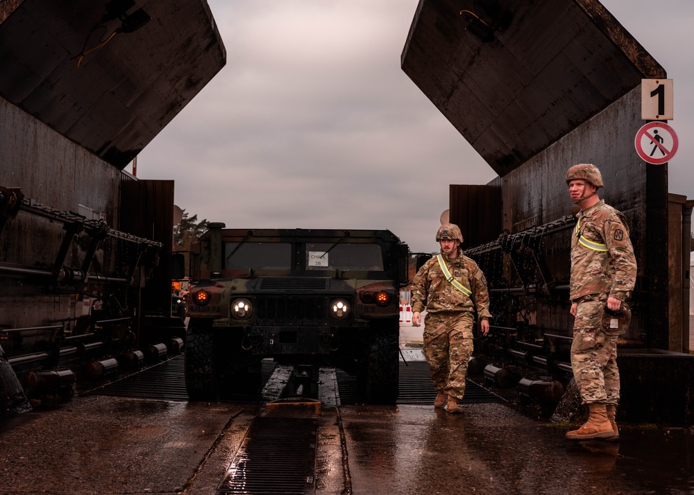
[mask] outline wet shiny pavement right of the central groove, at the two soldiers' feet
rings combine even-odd
[[[691,493],[691,432],[624,428],[619,442],[568,442],[568,426],[500,404],[451,416],[421,406],[341,412],[355,493]]]

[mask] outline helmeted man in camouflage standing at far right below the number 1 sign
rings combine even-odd
[[[603,321],[606,307],[629,311],[625,301],[636,282],[636,258],[624,215],[598,198],[603,186],[598,168],[572,166],[566,184],[581,208],[571,237],[570,312],[575,316],[571,365],[581,399],[591,412],[588,421],[566,433],[566,438],[615,439],[619,435],[614,421],[619,401],[617,336]]]

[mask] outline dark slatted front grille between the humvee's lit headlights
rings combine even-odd
[[[258,324],[321,324],[328,319],[325,297],[262,297],[256,304]]]

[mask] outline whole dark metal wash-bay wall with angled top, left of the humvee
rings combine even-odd
[[[182,345],[174,183],[122,169],[225,62],[205,0],[0,2],[0,360],[30,394]]]

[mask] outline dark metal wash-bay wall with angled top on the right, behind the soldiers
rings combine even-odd
[[[575,211],[564,178],[593,163],[600,198],[627,217],[638,262],[619,347],[622,414],[693,422],[694,358],[682,354],[692,205],[668,196],[667,164],[634,150],[641,80],[665,70],[597,0],[421,0],[402,67],[499,174],[450,186],[450,220],[486,274],[497,316],[478,351],[571,376]]]

